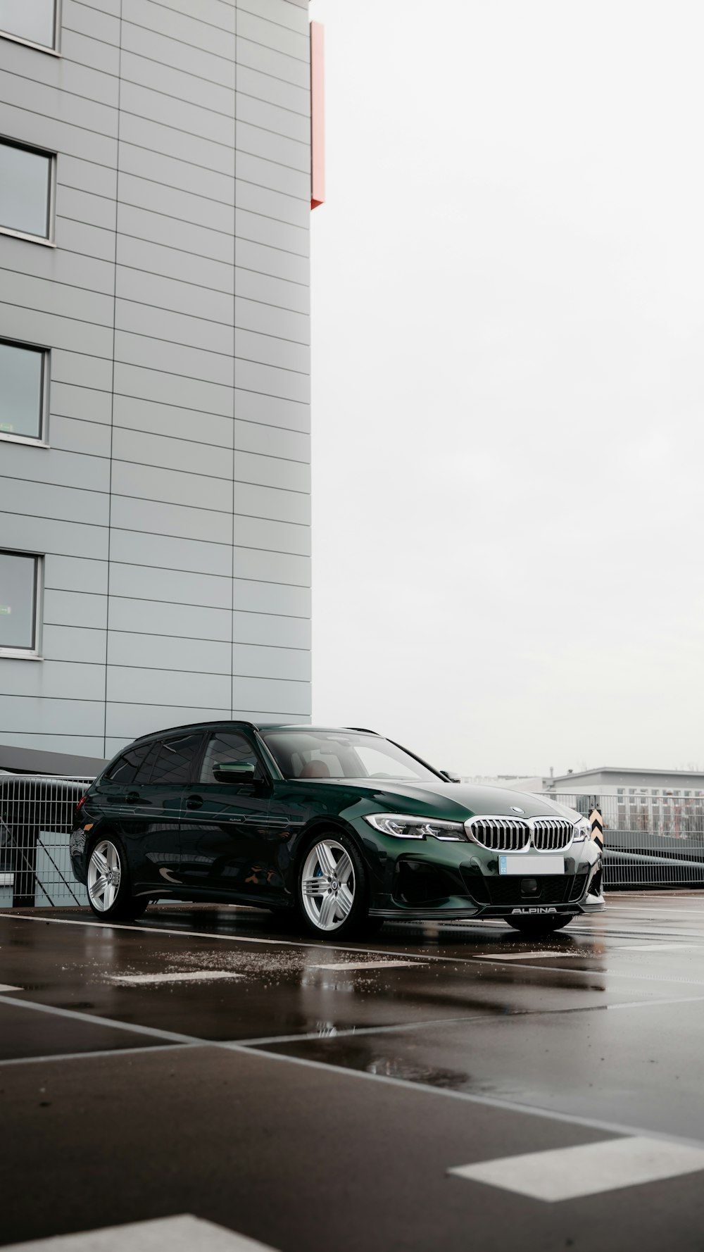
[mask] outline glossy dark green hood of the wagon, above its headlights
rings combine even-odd
[[[323,786],[329,786],[322,781]],[[337,786],[352,786],[365,791],[370,801],[387,811],[407,813],[451,821],[491,814],[505,818],[569,818],[577,821],[580,814],[542,795],[526,791],[509,791],[499,786],[472,786],[457,782],[400,782],[392,779],[339,779]]]

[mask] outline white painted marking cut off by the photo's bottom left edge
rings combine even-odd
[[[4,1252],[164,1252],[164,1248],[169,1252],[276,1252],[267,1243],[248,1239],[190,1213],[13,1243]]]

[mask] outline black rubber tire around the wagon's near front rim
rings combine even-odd
[[[333,864],[342,866],[341,875],[342,879],[332,876],[332,874],[313,874],[311,875],[311,864],[313,860],[313,854],[316,859],[318,856],[318,849],[321,845],[332,845],[328,850],[332,854]],[[348,858],[351,868],[347,869]],[[322,864],[318,863],[318,868],[322,870]],[[314,881],[317,878],[321,880],[326,879],[331,883],[331,889],[324,890],[321,895],[311,895],[309,891],[304,891],[303,881]],[[337,883],[337,889],[334,885]],[[347,893],[346,895],[343,893]],[[317,901],[321,900],[322,911],[322,899],[328,896],[328,900],[334,896],[334,904],[329,908],[333,909],[333,920],[329,925],[321,925],[316,923]],[[348,896],[351,896],[352,903],[348,906]],[[306,899],[309,901],[306,903]],[[357,849],[357,845],[349,835],[343,831],[318,830],[314,835],[311,835],[307,841],[299,859],[298,868],[296,870],[296,901],[298,905],[298,915],[308,931],[308,934],[317,935],[318,939],[351,939],[352,936],[360,936],[370,933],[368,928],[373,928],[377,918],[370,918],[370,876],[367,868],[362,860],[362,856]],[[311,903],[312,901],[312,903]],[[348,908],[346,916],[341,916],[344,909]]]

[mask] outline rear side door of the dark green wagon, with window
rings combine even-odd
[[[155,740],[132,781],[129,770],[114,771],[105,813],[125,845],[137,891],[172,895],[180,885],[182,794],[202,741],[200,732]]]

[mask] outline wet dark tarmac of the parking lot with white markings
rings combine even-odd
[[[545,940],[0,913],[0,1244],[703,1252],[703,1025],[704,893]]]

